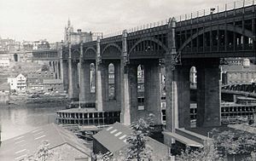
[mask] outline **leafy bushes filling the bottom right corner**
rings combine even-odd
[[[223,160],[228,155],[249,154],[251,156],[246,158],[246,161],[256,160],[256,153],[252,152],[256,147],[256,139],[254,135],[246,133],[241,130],[223,132],[217,129],[212,129],[212,145],[205,145],[203,148],[192,151],[187,147],[180,156],[177,156],[179,161],[204,161],[204,160]]]

